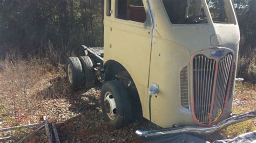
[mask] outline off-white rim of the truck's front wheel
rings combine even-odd
[[[104,96],[104,105],[105,105],[107,116],[109,116],[111,120],[116,119],[116,116],[117,116],[116,102],[114,101],[114,97],[111,94],[111,92],[106,92]]]

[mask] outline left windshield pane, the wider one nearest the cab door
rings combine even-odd
[[[163,0],[172,24],[207,23],[201,0]]]

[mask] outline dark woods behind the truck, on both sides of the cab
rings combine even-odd
[[[241,31],[238,76],[256,81],[256,1],[234,3]],[[0,0],[0,57],[37,55],[49,43],[59,54],[103,46],[103,13],[104,0]]]

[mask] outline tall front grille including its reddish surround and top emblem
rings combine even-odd
[[[213,50],[219,50],[223,54],[212,56]],[[200,60],[199,57],[201,58]],[[200,63],[196,63],[196,61]],[[210,67],[209,61],[212,63],[215,61],[215,65],[211,67],[212,73],[211,68],[208,68]],[[232,91],[230,87],[234,66],[233,61],[234,52],[223,47],[207,49],[192,55],[191,112],[194,121],[198,125],[212,126],[223,117],[230,91]],[[196,74],[198,72],[199,74]],[[210,77],[213,78],[212,82],[209,79]]]

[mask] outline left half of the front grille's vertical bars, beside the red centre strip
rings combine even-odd
[[[204,124],[210,115],[215,66],[215,60],[204,55],[197,55],[193,60],[194,112]]]

